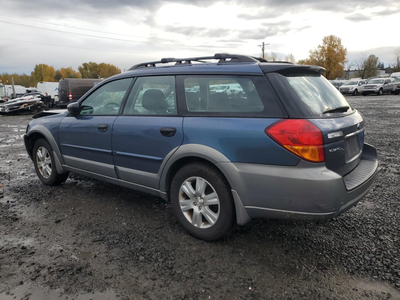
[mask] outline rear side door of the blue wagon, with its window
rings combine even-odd
[[[174,76],[138,77],[112,128],[112,154],[122,180],[158,188],[160,168],[182,144]]]

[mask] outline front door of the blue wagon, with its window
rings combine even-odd
[[[116,178],[112,157],[112,128],[132,78],[106,82],[80,102],[76,116],[59,127],[60,150],[67,166]]]

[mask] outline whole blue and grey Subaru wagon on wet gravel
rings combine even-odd
[[[204,240],[252,218],[332,218],[378,160],[324,71],[231,54],[138,64],[34,116],[26,150],[44,184],[76,172],[160,196]]]

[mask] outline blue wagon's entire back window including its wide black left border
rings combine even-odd
[[[268,79],[282,100],[288,114],[298,118],[326,118],[353,111],[344,96],[320,74],[268,73]],[[347,112],[324,114],[340,106],[349,106]]]

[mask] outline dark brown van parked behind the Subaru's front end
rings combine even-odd
[[[66,78],[58,83],[58,106],[66,106],[76,102],[88,90],[100,83],[102,79]]]

